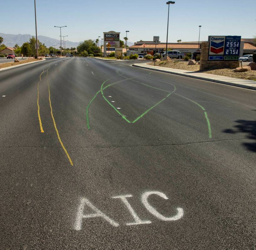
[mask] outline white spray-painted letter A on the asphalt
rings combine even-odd
[[[95,213],[83,214],[85,205],[90,207]],[[81,230],[82,227],[83,227],[83,219],[85,219],[85,218],[95,218],[95,217],[102,217],[104,220],[109,222],[114,227],[119,226],[119,224],[117,222],[115,222],[110,217],[108,217],[106,214],[101,212],[97,207],[93,206],[89,200],[87,200],[86,198],[81,198],[80,206],[78,208],[76,220],[75,220],[75,223],[74,223],[74,229],[75,230]]]

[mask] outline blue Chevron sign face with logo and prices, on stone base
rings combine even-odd
[[[237,61],[241,36],[209,36],[209,60]]]

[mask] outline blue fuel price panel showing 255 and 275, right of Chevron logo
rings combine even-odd
[[[238,60],[241,36],[226,36],[224,60]]]

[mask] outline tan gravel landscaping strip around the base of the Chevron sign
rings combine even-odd
[[[153,62],[149,63],[149,65],[154,65]],[[214,74],[214,75],[223,75],[228,77],[235,77],[240,79],[254,80],[256,81],[256,71],[249,70],[247,72],[234,72],[234,69],[214,69],[214,70],[199,70],[200,65],[187,65],[184,62],[170,62],[170,61],[161,61],[156,62],[157,66],[172,68],[172,69],[183,69],[189,71],[198,71],[201,73]]]

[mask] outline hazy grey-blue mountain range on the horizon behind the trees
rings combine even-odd
[[[0,33],[0,36],[3,37],[3,43],[8,47],[13,47],[16,43],[19,46],[22,46],[23,43],[28,42],[29,38],[32,37],[32,35],[29,35],[29,34],[14,35],[14,34],[4,34],[4,33]],[[58,45],[58,47],[60,46],[58,44],[58,43],[60,43],[60,40],[55,39],[55,38],[50,38],[50,37],[46,37],[46,36],[38,36],[38,39],[41,43],[44,43],[46,47],[50,47],[50,46],[53,46],[56,44]],[[95,42],[96,40],[94,39],[93,41]],[[81,42],[67,41],[66,48],[71,48],[71,47],[76,48],[79,45],[79,43],[81,43]],[[127,42],[127,44],[128,44],[128,46],[131,46],[134,43]],[[100,45],[101,45],[101,41],[100,41]]]

